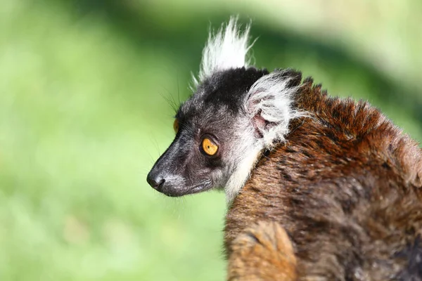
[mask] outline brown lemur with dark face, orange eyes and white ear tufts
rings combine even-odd
[[[227,280],[422,280],[418,143],[367,102],[251,66],[239,27],[210,32],[148,183],[224,189]]]

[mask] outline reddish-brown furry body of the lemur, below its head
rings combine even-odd
[[[422,271],[418,144],[312,79],[295,105],[311,116],[260,159],[226,216],[228,279],[421,280],[409,279]]]

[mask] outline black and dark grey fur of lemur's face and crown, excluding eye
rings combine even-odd
[[[148,183],[168,196],[182,196],[222,188],[242,153],[238,132],[245,126],[245,96],[267,70],[237,68],[212,74],[179,108],[179,131],[154,164]],[[215,155],[202,148],[204,138],[218,146]]]

